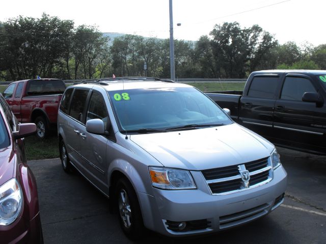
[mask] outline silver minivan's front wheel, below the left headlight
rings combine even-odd
[[[125,178],[120,178],[116,186],[121,228],[129,239],[140,239],[144,235],[145,227],[137,195]]]

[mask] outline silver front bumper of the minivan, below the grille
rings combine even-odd
[[[287,174],[283,166],[273,180],[257,188],[213,196],[201,172],[192,171],[196,190],[154,189],[154,196],[138,192],[144,224],[167,236],[188,236],[217,232],[248,223],[273,211],[283,202]],[[183,231],[178,224],[190,227]],[[199,229],[198,229],[199,228]]]

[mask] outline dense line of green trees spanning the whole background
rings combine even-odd
[[[280,45],[259,25],[216,24],[196,42],[175,40],[179,78],[246,78],[263,69],[326,69],[326,44]],[[0,22],[0,79],[90,79],[116,76],[170,77],[169,39],[135,35],[108,45],[95,26],[43,14]],[[147,70],[143,69],[144,63]]]

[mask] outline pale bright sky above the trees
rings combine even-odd
[[[169,0],[3,0],[0,21],[19,15],[40,18],[43,12],[76,26],[96,25],[103,33],[170,37]],[[196,41],[215,24],[234,21],[242,28],[258,24],[280,44],[326,43],[324,0],[173,0],[175,39]]]

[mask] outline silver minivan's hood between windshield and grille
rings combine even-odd
[[[131,135],[165,167],[204,170],[269,157],[274,145],[237,124]]]

